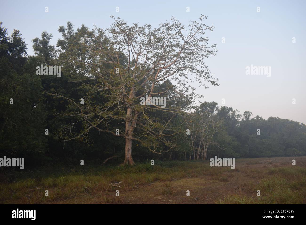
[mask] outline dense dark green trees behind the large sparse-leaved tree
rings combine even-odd
[[[116,129],[120,133],[125,130],[125,115],[114,107],[112,100],[116,93],[108,88],[100,92],[89,88],[101,86],[103,77],[87,79],[88,74],[95,73],[95,68],[72,64],[89,55],[80,46],[80,37],[94,39],[96,36],[84,25],[74,31],[70,22],[58,31],[63,39],[58,40],[57,47],[49,44],[52,35],[44,31],[40,38],[33,39],[35,55],[29,56],[19,31],[14,30],[8,36],[1,23],[0,157],[23,157],[28,166],[29,162],[32,165],[73,164],[80,159],[88,164],[103,163],[113,156],[108,163],[122,163],[125,140],[114,133]],[[101,39],[104,45],[109,44],[105,37]],[[69,59],[66,58],[68,53]],[[118,60],[123,68],[120,69],[127,69],[124,65],[129,62],[125,55],[121,57]],[[35,68],[41,64],[62,65],[62,76],[36,75]],[[71,66],[77,68],[71,69]],[[107,64],[99,69],[113,70],[116,74],[115,67]],[[114,83],[118,82],[114,78]],[[216,84],[212,80],[210,83]],[[306,155],[305,124],[278,117],[251,118],[249,111],[242,115],[231,107],[219,107],[215,102],[204,102],[196,107],[176,88],[170,79],[156,84],[155,92],[165,92],[163,96],[173,99],[167,106],[176,111],[158,111],[153,107],[143,110],[145,116],[138,123],[142,127],[133,134],[133,138],[139,140],[132,143],[135,161]],[[76,104],[72,103],[72,100],[79,103],[81,98],[85,102],[83,114],[77,113]],[[111,108],[111,119],[99,121],[95,115],[103,107]],[[82,120],[85,114],[87,119]],[[153,121],[153,125],[148,121]],[[92,125],[94,122],[99,122],[99,129],[90,129],[96,127]],[[45,135],[45,129],[49,130],[49,135]]]

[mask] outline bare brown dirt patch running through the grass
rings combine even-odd
[[[176,179],[170,182],[174,187],[173,195],[163,195],[165,182],[154,182],[148,185],[137,186],[133,190],[120,190],[120,203],[122,204],[214,204],[228,194],[243,194],[247,197],[256,196],[256,192],[245,187],[245,183],[259,183],[262,178],[254,178],[246,171],[254,169],[267,169],[275,167],[292,166],[292,159],[297,160],[297,165],[306,166],[306,156],[302,157],[276,157],[276,158],[256,158],[238,159],[236,168],[229,172],[224,172],[223,177],[228,181],[213,180],[209,174],[199,177]],[[233,175],[230,175],[233,173]],[[186,191],[190,191],[190,196],[186,196]],[[104,193],[105,194],[105,193]],[[73,198],[57,201],[52,204],[103,204],[103,197],[115,197],[115,192],[107,192],[106,195],[76,195]]]

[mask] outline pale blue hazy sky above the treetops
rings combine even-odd
[[[157,27],[172,16],[186,25],[208,16],[206,25],[211,43],[218,46],[217,56],[207,59],[219,86],[198,88],[202,101],[216,101],[243,114],[251,111],[267,119],[270,116],[306,123],[305,118],[305,24],[306,1],[3,1],[0,21],[20,30],[33,54],[31,40],[44,30],[52,33],[51,44],[61,38],[57,29],[72,21],[75,28],[84,23],[107,28],[111,15],[129,24],[149,23]],[[49,12],[45,12],[45,7]],[[116,13],[116,7],[119,13]],[[186,7],[190,12],[186,12]],[[260,7],[260,12],[257,12]],[[222,38],[225,43],[222,43]],[[293,37],[296,43],[293,43]],[[246,75],[246,66],[271,66],[271,77]],[[225,99],[225,104],[222,104]],[[293,104],[296,99],[296,104]]]

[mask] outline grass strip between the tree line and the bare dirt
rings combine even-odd
[[[110,185],[115,181],[121,181],[121,190],[132,190],[135,186],[156,181],[169,184],[172,179],[215,173],[215,170],[209,167],[207,163],[179,161],[157,162],[155,166],[147,163],[134,166],[83,168],[70,170],[61,168],[62,170],[58,171],[58,175],[53,174],[47,177],[44,177],[44,174],[40,174],[39,171],[29,174],[32,177],[36,175],[38,178],[20,179],[19,174],[17,174],[16,181],[0,184],[0,203],[12,201],[26,204],[47,203],[85,193],[102,196],[106,192],[118,189],[118,187]],[[220,174],[220,172],[217,172],[217,175]],[[165,188],[165,194],[174,194],[172,187],[166,186]],[[49,196],[45,196],[45,190],[49,191]],[[113,200],[104,202],[109,203]]]

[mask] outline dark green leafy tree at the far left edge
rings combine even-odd
[[[0,24],[0,155],[41,160],[47,150],[44,134],[47,112],[41,79],[29,70],[31,59],[19,31],[7,36]],[[13,104],[10,104],[13,99]]]

